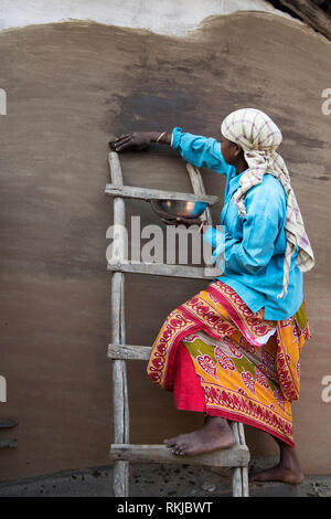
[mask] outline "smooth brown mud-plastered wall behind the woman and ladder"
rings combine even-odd
[[[130,130],[220,136],[220,124],[243,106],[267,112],[284,131],[281,153],[307,224],[317,267],[306,276],[313,339],[301,361],[301,398],[293,405],[296,439],[308,473],[331,466],[331,403],[321,380],[331,374],[330,87],[331,47],[285,19],[239,13],[210,20],[175,39],[93,22],[66,22],[0,34],[1,369],[8,402],[1,431],[19,446],[1,451],[0,477],[108,465],[111,435],[110,274],[106,231],[113,201],[109,139]],[[168,147],[121,156],[125,182],[190,190],[184,162]],[[204,170],[209,194],[224,180]],[[127,218],[159,221],[143,201]],[[163,227],[164,229],[164,227]],[[150,346],[170,310],[205,286],[202,280],[126,276],[127,342]],[[131,442],[160,443],[197,427],[177,412],[171,393],[152,385],[143,362],[129,362]],[[249,427],[253,455],[274,442]]]

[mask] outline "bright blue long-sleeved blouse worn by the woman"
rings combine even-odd
[[[196,167],[206,167],[226,176],[225,201],[221,224],[225,233],[209,229],[204,233],[217,258],[224,252],[223,275],[217,277],[231,286],[252,311],[264,308],[268,320],[291,317],[303,299],[302,273],[292,256],[286,297],[282,290],[284,255],[286,250],[286,194],[273,174],[265,174],[260,184],[245,197],[246,215],[239,216],[232,195],[239,188],[241,174],[225,162],[221,144],[213,139],[182,131],[175,127],[171,145],[183,159]]]

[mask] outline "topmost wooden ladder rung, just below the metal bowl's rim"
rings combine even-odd
[[[178,193],[174,191],[163,191],[160,189],[136,188],[132,186],[116,186],[107,183],[105,193],[109,197],[124,197],[142,200],[186,200],[188,202],[207,202],[214,204],[218,202],[218,197],[207,194]]]

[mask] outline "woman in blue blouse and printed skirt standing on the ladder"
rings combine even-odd
[[[224,254],[224,274],[168,316],[148,374],[173,391],[178,409],[204,413],[201,430],[166,439],[174,454],[229,447],[234,437],[227,420],[238,421],[271,434],[280,449],[279,464],[252,479],[299,484],[303,474],[291,402],[299,398],[300,349],[310,338],[302,272],[312,268],[313,253],[287,167],[276,152],[279,128],[263,112],[244,108],[224,119],[221,133],[221,144],[179,127],[115,141],[117,151],[169,144],[186,161],[227,179],[221,214],[225,235],[214,229],[204,235],[216,262]]]

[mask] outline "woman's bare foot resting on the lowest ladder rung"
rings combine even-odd
[[[167,447],[178,456],[194,456],[234,445],[235,438],[226,420],[207,416],[202,428],[164,439]]]

